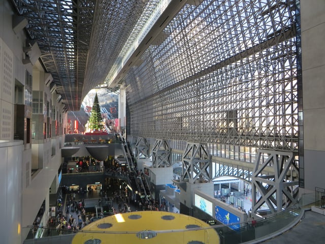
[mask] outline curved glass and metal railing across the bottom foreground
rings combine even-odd
[[[271,236],[276,236],[278,233],[283,233],[285,230],[292,228],[294,225],[296,225],[301,219],[304,214],[304,210],[306,208],[309,208],[310,205],[315,203],[315,193],[311,194],[304,194],[301,196],[298,203],[284,211],[278,212],[274,215],[267,216],[266,218],[256,219],[256,225],[252,226],[251,223],[240,223],[240,228],[232,228],[231,225],[216,225],[216,226],[210,226],[210,227],[202,227],[198,228],[198,230],[202,230],[203,234],[209,230],[214,229],[220,239],[220,244],[225,243],[252,243],[252,242],[258,242],[262,240],[266,240],[270,238]],[[236,223],[238,225],[238,223]],[[28,226],[23,229],[27,229],[30,231],[32,227]],[[105,233],[107,235],[107,238],[117,238],[115,236],[117,235],[135,235],[136,232],[128,231],[128,232],[110,232],[110,231],[85,231],[85,230],[79,230],[78,232],[68,229],[57,229],[55,227],[53,228],[38,228],[35,231],[32,231],[32,233],[39,232],[42,234],[42,236],[46,236],[43,238],[36,238],[36,236],[29,236],[29,239],[26,239],[23,243],[24,244],[30,244],[30,243],[72,243],[73,237],[76,235],[76,233],[82,232],[85,235],[87,233],[91,233],[93,238],[95,238],[95,235],[100,233]],[[168,235],[172,232],[183,232],[184,233],[184,241],[186,239],[186,232],[188,229],[179,229],[179,230],[162,230],[162,231],[155,231],[159,235]],[[74,242],[75,243],[75,242]],[[90,243],[90,242],[89,242]],[[187,242],[184,242],[187,243]],[[80,243],[83,244],[83,243]]]

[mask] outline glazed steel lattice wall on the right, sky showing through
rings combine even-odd
[[[125,78],[132,136],[298,151],[294,1],[186,4],[155,44]]]

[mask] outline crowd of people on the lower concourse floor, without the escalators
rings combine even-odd
[[[119,177],[129,176],[128,172],[120,168],[111,167],[107,171],[111,175]],[[135,176],[141,178],[141,172],[137,172]],[[110,214],[115,215],[132,210],[152,211],[165,209],[165,204],[159,205],[155,200],[146,199],[141,201],[138,199],[137,201],[131,192],[125,194],[126,192],[119,189],[118,180],[112,180],[109,176],[106,178],[105,187],[97,192],[98,206],[102,207],[102,209],[104,206],[109,206],[111,208]],[[57,214],[48,220],[48,231],[55,230],[58,235],[77,232],[96,219],[94,213],[86,213],[85,199],[79,199],[80,197],[87,197],[87,195],[67,188],[64,188],[64,194],[66,195],[66,202],[63,202],[62,197],[59,197],[57,199]],[[90,196],[93,193],[88,192],[88,194]],[[76,215],[78,217],[75,217]],[[103,211],[100,212],[99,216],[100,218],[104,217]]]

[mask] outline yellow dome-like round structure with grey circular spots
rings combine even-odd
[[[85,226],[72,244],[184,243],[219,244],[214,228],[196,218],[165,211],[135,211]]]

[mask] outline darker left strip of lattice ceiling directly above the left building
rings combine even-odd
[[[78,110],[96,1],[12,1],[69,110]]]

